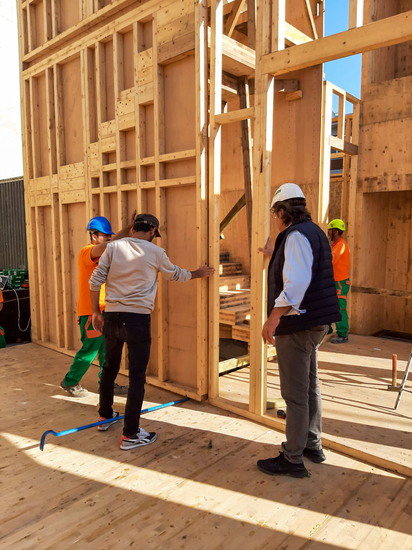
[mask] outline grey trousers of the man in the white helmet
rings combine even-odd
[[[280,394],[286,401],[285,458],[303,460],[302,451],[322,447],[322,398],[318,378],[318,347],[326,325],[275,337]]]

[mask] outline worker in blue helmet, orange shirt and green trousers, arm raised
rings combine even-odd
[[[99,354],[100,365],[100,389],[101,369],[105,362],[105,342],[102,334],[96,332],[91,323],[92,310],[89,279],[99,263],[100,256],[106,250],[107,243],[110,243],[111,240],[122,239],[128,236],[133,227],[135,215],[136,212],[134,211],[131,222],[116,234],[113,233],[109,220],[103,216],[95,216],[87,224],[86,230],[90,234],[90,244],[84,246],[78,255],[79,298],[77,302],[77,322],[80,327],[82,348],[74,356],[72,365],[60,384],[72,397],[86,397],[88,395],[88,390],[80,386],[80,380],[97,354]],[[103,312],[104,309],[105,288],[103,285],[100,292],[100,311]],[[116,395],[126,394],[127,390],[127,386],[115,384]]]

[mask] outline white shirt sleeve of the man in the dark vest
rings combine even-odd
[[[285,263],[283,266],[283,290],[274,307],[290,306],[284,315],[300,315],[303,296],[312,280],[312,247],[299,231],[291,231],[286,237]]]

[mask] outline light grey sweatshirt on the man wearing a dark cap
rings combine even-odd
[[[149,241],[126,237],[112,241],[90,277],[90,290],[106,283],[105,311],[151,313],[158,273],[168,281],[186,283],[192,274],[174,266],[164,249]]]

